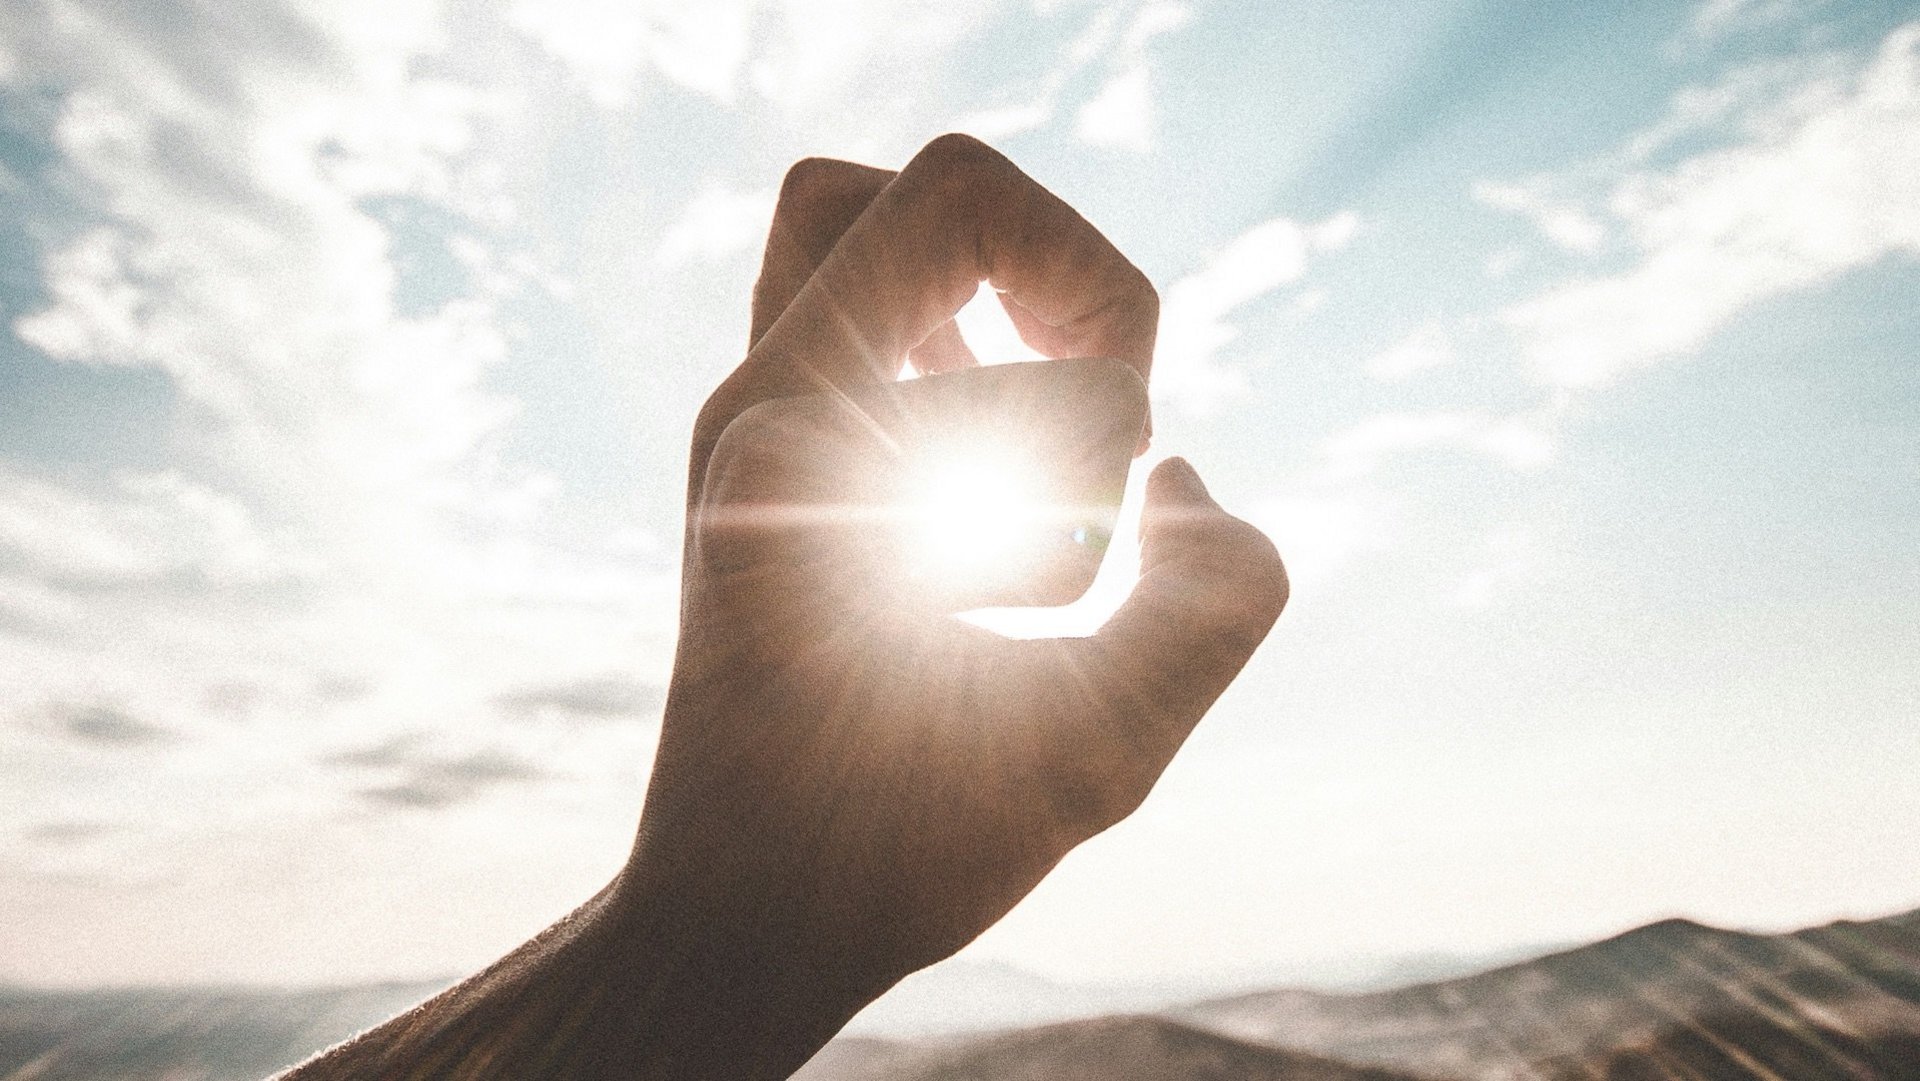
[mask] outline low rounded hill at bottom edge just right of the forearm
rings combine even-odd
[[[839,1041],[835,1041],[839,1043]],[[816,1056],[793,1081],[1417,1081],[1223,1037],[1167,1018],[1121,1016],[945,1041],[862,1041]]]

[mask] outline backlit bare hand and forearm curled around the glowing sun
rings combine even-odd
[[[856,532],[726,524],[816,499],[849,438],[735,419],[893,378],[902,355],[972,365],[950,319],[981,280],[1043,353],[1148,374],[1152,286],[991,148],[943,136],[897,175],[789,171],[749,353],[693,432],[680,649],[626,868],[284,1077],[787,1077],[1139,806],[1286,603],[1273,545],[1187,463],[1148,480],[1140,584],[1092,637],[1002,639],[889,603]]]

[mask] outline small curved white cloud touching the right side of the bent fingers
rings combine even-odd
[[[1154,351],[1154,396],[1194,411],[1212,409],[1242,386],[1240,372],[1217,355],[1238,330],[1235,309],[1298,282],[1313,253],[1336,252],[1357,228],[1352,213],[1319,225],[1284,217],[1263,221],[1215,252],[1194,273],[1165,290],[1160,346]]]

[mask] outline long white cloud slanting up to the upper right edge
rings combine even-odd
[[[1855,79],[1780,109],[1749,142],[1615,186],[1632,269],[1505,313],[1548,380],[1609,382],[1699,348],[1759,301],[1920,252],[1920,25]]]

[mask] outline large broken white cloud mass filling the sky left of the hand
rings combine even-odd
[[[215,891],[182,910],[232,910],[273,901],[219,891],[259,853],[204,837],[265,822],[253,843],[365,843],[315,755],[397,730],[467,755],[509,739],[499,689],[580,666],[653,678],[674,568],[664,545],[547,534],[555,482],[503,457],[503,298],[538,275],[490,253],[513,209],[484,159],[499,102],[424,73],[442,8],[263,4],[228,35],[144,17],[54,2],[0,21],[0,67],[61,94],[36,196],[83,223],[33,223],[44,303],[13,330],[61,363],[163,374],[180,419],[138,470],[0,468],[0,722],[102,703],[179,739],[132,772],[0,724],[0,787],[125,835],[102,851],[138,849],[136,877]],[[455,221],[470,286],[401,311],[382,200]],[[250,703],[246,724],[215,699]],[[576,793],[618,791],[618,822],[632,785]],[[58,906],[29,916],[10,956],[71,937]],[[171,937],[142,956],[157,968],[134,977],[192,975]]]

